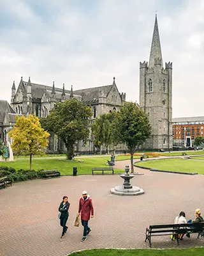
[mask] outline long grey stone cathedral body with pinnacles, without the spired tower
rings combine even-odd
[[[21,77],[17,89],[15,82],[13,82],[11,88],[11,107],[18,115],[34,114],[38,117],[46,117],[50,110],[54,108],[55,103],[64,102],[64,100],[73,97],[91,106],[91,124],[101,114],[118,111],[126,100],[126,93],[119,93],[115,84],[115,77],[113,77],[113,83],[110,85],[76,91],[73,91],[73,86],[71,86],[71,90],[65,90],[64,84],[62,88],[57,88],[54,82],[52,86],[47,86],[32,83],[30,77],[26,82]],[[91,134],[87,143],[85,144],[83,141],[78,143],[75,150],[86,154],[94,152],[95,148]],[[64,151],[65,148],[62,141],[55,134],[52,134],[49,138],[47,152],[57,153]]]

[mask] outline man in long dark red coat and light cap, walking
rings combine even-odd
[[[82,242],[84,242],[87,239],[87,235],[91,232],[91,228],[88,226],[90,216],[91,218],[94,218],[92,200],[85,190],[82,192],[82,198],[79,200],[77,216],[80,216],[80,214],[82,226],[84,227],[84,234],[82,237]]]

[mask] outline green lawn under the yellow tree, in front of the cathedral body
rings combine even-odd
[[[73,166],[77,166],[77,175],[80,174],[91,174],[92,167],[105,167],[107,157],[84,157],[76,159],[75,161],[67,161],[66,159],[33,159],[33,170],[53,170],[57,169],[61,172],[61,175],[72,175],[73,174]],[[82,162],[80,162],[82,161]],[[0,166],[11,166],[15,169],[29,169],[29,159],[16,159],[14,162],[0,162]],[[107,167],[107,166],[106,166]],[[114,171],[117,173],[124,172],[124,170],[119,170],[114,168]]]

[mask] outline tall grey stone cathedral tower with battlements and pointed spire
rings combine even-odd
[[[163,67],[157,15],[149,65],[140,62],[140,107],[149,115],[152,126],[152,135],[143,147],[172,148],[172,63]]]

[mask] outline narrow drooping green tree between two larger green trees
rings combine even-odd
[[[94,134],[94,145],[105,145],[106,154],[108,154],[108,147],[112,143],[112,124],[111,114],[103,114],[96,118],[91,125],[92,133]]]

